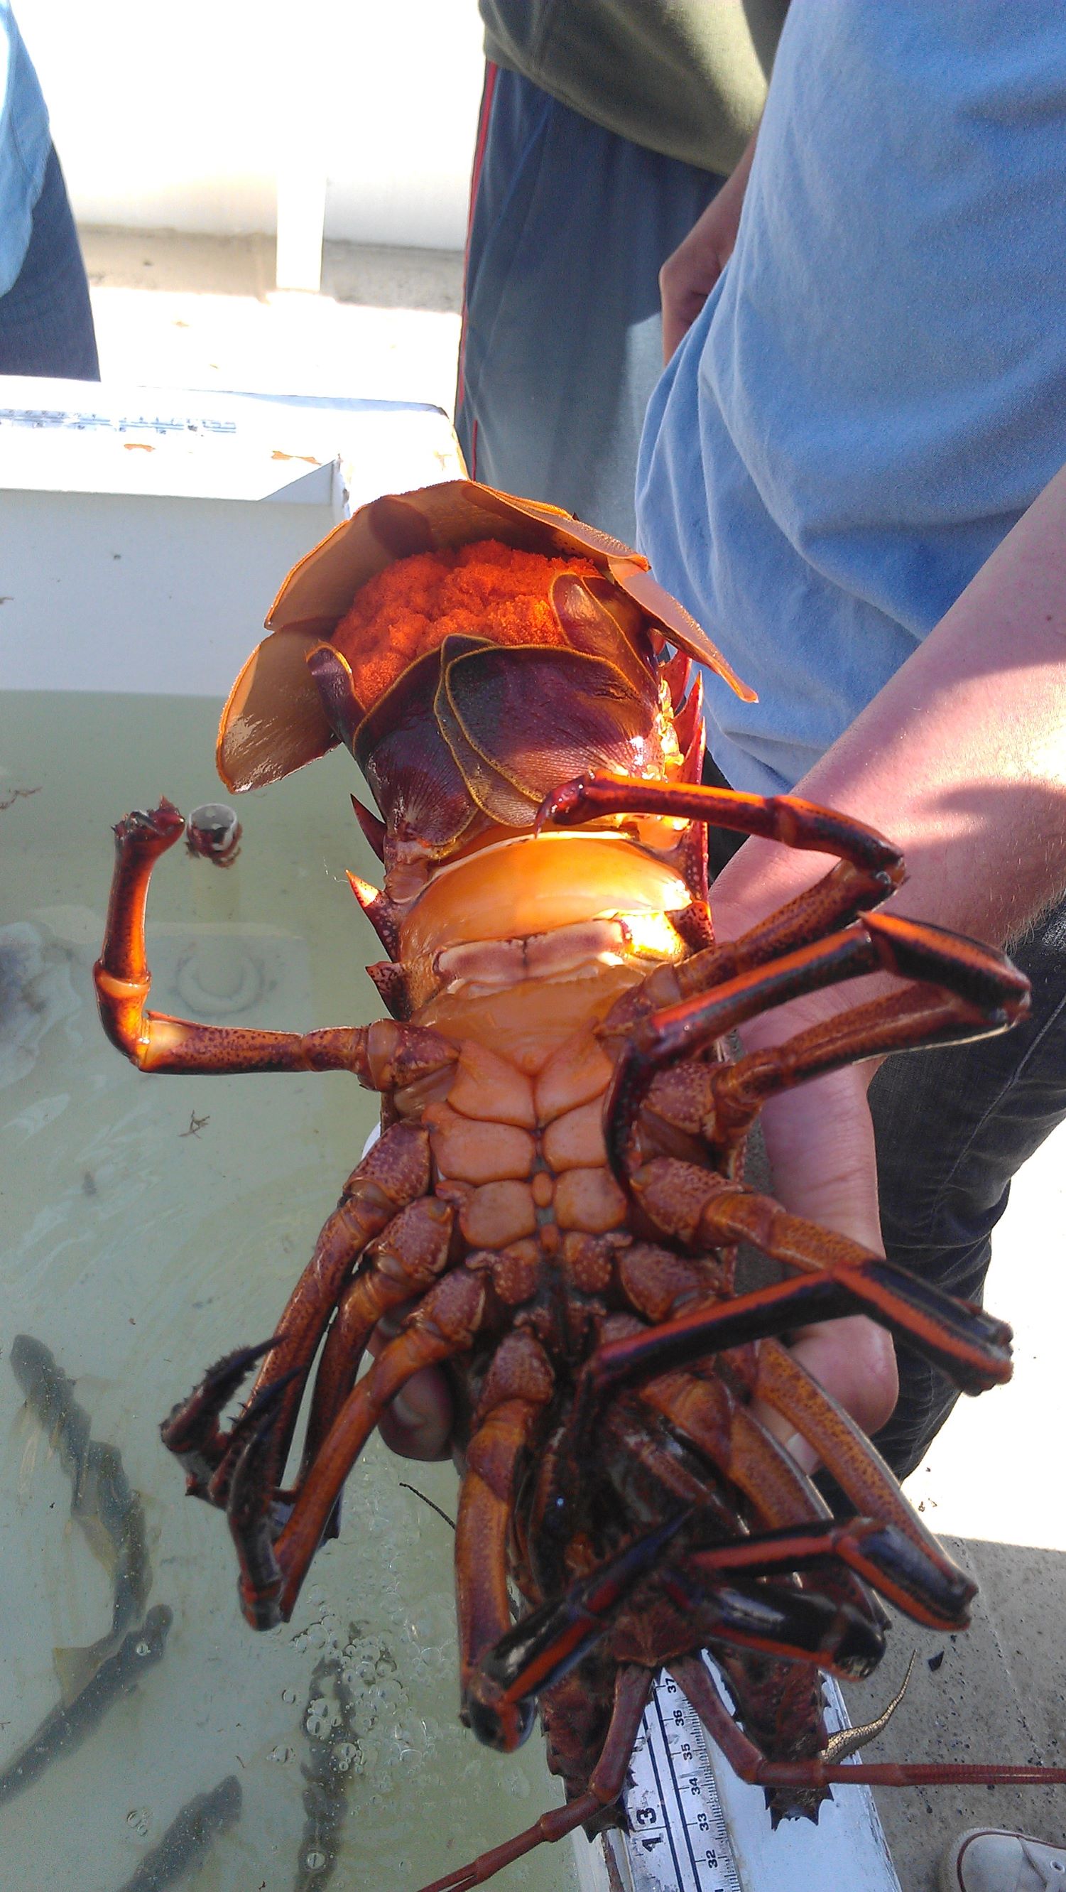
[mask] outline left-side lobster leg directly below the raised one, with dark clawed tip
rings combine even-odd
[[[259,1370],[251,1400],[259,1400],[278,1379],[291,1375],[272,1413],[272,1444],[280,1455],[278,1476],[289,1449],[306,1374],[336,1304],[340,1288],[363,1249],[382,1228],[429,1188],[429,1137],[410,1124],[393,1124],[352,1171],[338,1209],[325,1222],[314,1254],[301,1275],[278,1323],[274,1345]],[[234,1357],[236,1358],[236,1357]],[[225,1364],[225,1362],[223,1362]],[[234,1393],[232,1375],[208,1379],[163,1423],[163,1444],[176,1451],[187,1470],[187,1489],[225,1504],[231,1438],[217,1419]],[[240,1449],[246,1440],[240,1438]]]

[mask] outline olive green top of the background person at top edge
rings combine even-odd
[[[730,172],[788,0],[478,0],[486,59],[607,131]]]

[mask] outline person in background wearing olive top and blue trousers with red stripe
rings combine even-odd
[[[660,267],[758,121],[786,0],[480,0],[456,431],[471,477],[633,543]]]

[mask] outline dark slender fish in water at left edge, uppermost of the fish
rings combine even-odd
[[[106,1635],[87,1648],[55,1650],[62,1699],[70,1705],[117,1650],[127,1629],[144,1616],[151,1591],[144,1504],[123,1470],[117,1445],[89,1436],[89,1413],[74,1396],[74,1381],[43,1341],[19,1334],[11,1341],[11,1370],[70,1478],[70,1515],[112,1578],[112,1627]]]

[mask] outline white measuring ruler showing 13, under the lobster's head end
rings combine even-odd
[[[834,1733],[849,1718],[835,1682],[824,1691]],[[628,1833],[575,1835],[582,1892],[900,1892],[869,1788],[834,1788],[817,1824],[773,1830],[762,1788],[737,1780],[669,1676],[641,1724],[626,1813]]]

